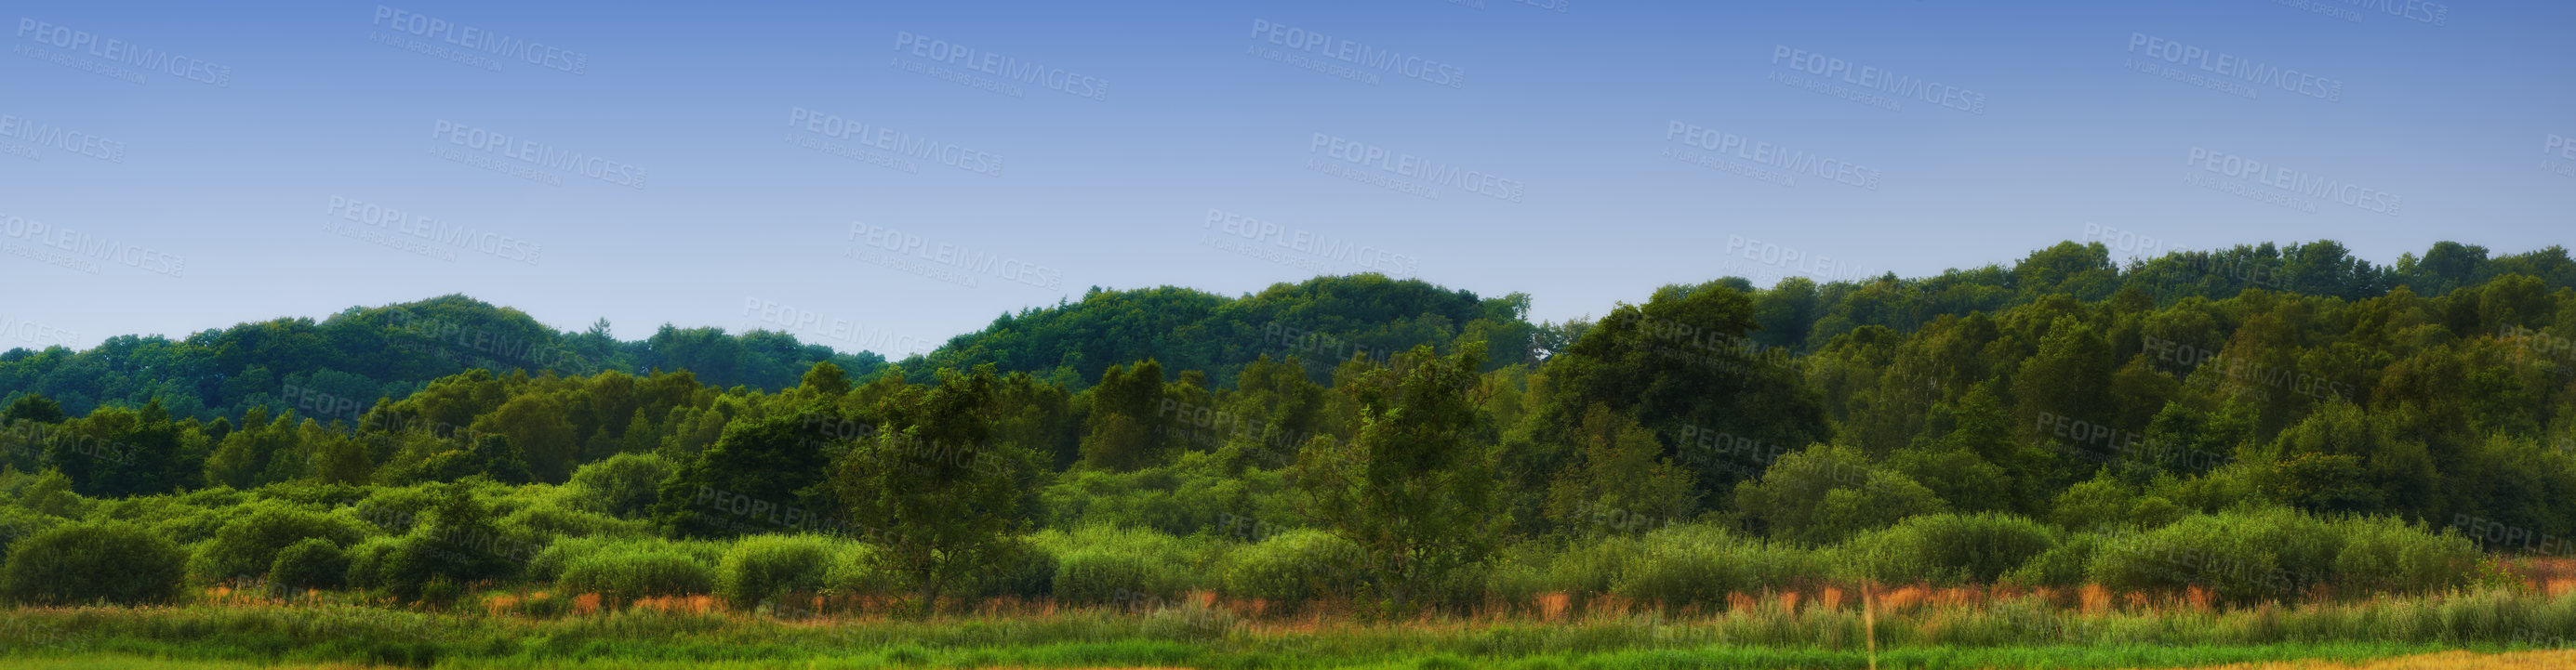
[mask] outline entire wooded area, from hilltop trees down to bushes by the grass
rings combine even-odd
[[[2205,611],[2133,634],[2187,644],[2576,634],[2563,247],[2061,242],[1528,312],[1363,273],[1095,286],[904,361],[770,330],[623,343],[469,296],[21,348],[0,600],[100,608],[85,626],[147,652],[175,634],[113,611],[907,626],[1043,603],[1216,636],[1615,611],[1842,649],[1842,626],[1976,626],[1723,616],[1965,598],[1989,644],[2087,634],[2020,606]],[[2432,613],[2473,593],[2506,624]]]

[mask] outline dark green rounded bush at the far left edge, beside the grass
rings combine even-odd
[[[142,526],[72,523],[10,546],[0,595],[28,606],[175,603],[185,567],[188,554]]]

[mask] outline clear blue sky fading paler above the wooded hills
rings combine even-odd
[[[466,294],[917,353],[1092,286],[2568,245],[2576,5],[54,3],[0,348]]]

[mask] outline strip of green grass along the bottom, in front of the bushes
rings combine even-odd
[[[1852,611],[1775,606],[1703,618],[1564,624],[1242,621],[1224,611],[1066,611],[930,621],[744,613],[420,613],[358,603],[8,608],[0,665],[62,667],[1865,667]],[[2576,595],[2450,595],[2223,613],[2038,611],[2027,603],[1878,621],[1880,667],[2187,667],[2512,649],[2576,629]],[[206,665],[198,665],[206,662]]]

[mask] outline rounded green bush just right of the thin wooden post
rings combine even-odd
[[[1873,582],[1989,585],[2056,549],[2048,526],[2020,515],[1917,515],[1834,551]]]

